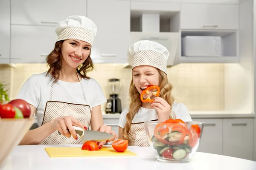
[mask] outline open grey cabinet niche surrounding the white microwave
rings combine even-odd
[[[221,37],[221,56],[216,57],[186,57],[183,54],[180,41],[180,63],[238,63],[238,32],[218,30],[181,30],[181,39],[186,36],[218,36]]]

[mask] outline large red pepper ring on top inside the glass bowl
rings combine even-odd
[[[167,131],[168,130],[168,131]],[[183,144],[187,129],[180,123],[159,123],[154,130],[154,136],[163,144]]]

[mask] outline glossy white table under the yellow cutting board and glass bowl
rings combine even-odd
[[[149,147],[129,146],[137,156],[49,158],[44,147],[53,146],[80,147],[17,146],[0,170],[256,170],[256,161],[201,152],[189,163],[160,162]]]

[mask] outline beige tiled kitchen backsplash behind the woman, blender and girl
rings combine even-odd
[[[122,110],[128,106],[128,89],[131,82],[131,68],[125,64],[95,64],[95,71],[89,76],[101,85],[108,99],[108,79],[121,81],[119,98]],[[47,70],[46,64],[16,64],[15,68],[0,65],[0,80],[9,84],[10,99],[15,99],[20,87],[32,74]],[[176,102],[186,105],[189,111],[224,110],[224,64],[179,64],[170,67],[168,79],[173,85]],[[102,106],[103,112],[105,105]]]

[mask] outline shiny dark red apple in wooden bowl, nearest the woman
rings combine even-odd
[[[14,99],[9,104],[17,107],[22,112],[24,118],[28,118],[30,116],[30,105],[25,100],[22,99]]]

